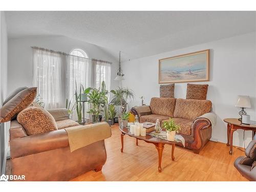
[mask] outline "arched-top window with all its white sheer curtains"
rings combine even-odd
[[[37,87],[46,109],[65,107],[66,99],[70,101],[74,97],[75,83],[78,89],[80,84],[84,89],[100,88],[104,80],[110,91],[110,75],[109,62],[90,59],[81,49],[74,49],[66,55],[33,48],[33,85]]]

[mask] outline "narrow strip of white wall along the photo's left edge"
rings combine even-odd
[[[0,107],[7,95],[7,28],[5,13],[0,11]],[[0,175],[5,172],[6,154],[8,146],[9,122],[0,125]]]

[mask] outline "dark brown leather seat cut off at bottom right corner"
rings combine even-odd
[[[249,181],[256,181],[256,135],[246,147],[245,157],[238,157],[234,167]]]

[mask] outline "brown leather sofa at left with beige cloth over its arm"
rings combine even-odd
[[[10,153],[12,175],[26,181],[68,181],[90,170],[100,171],[106,161],[104,140],[71,153],[63,129],[76,125],[65,109],[49,111],[59,130],[28,136],[17,120],[11,121]]]

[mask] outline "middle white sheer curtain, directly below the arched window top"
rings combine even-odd
[[[79,91],[80,84],[82,84],[83,88],[86,89],[88,87],[92,87],[92,61],[91,59],[77,57],[73,55],[69,55],[67,59],[67,93],[68,93],[68,101],[72,100],[71,108],[75,103],[75,89],[77,84],[77,89]],[[85,112],[89,110],[88,104],[85,104]],[[74,111],[75,113],[75,111]],[[86,113],[85,117],[89,115]],[[74,114],[73,117],[76,117]]]

